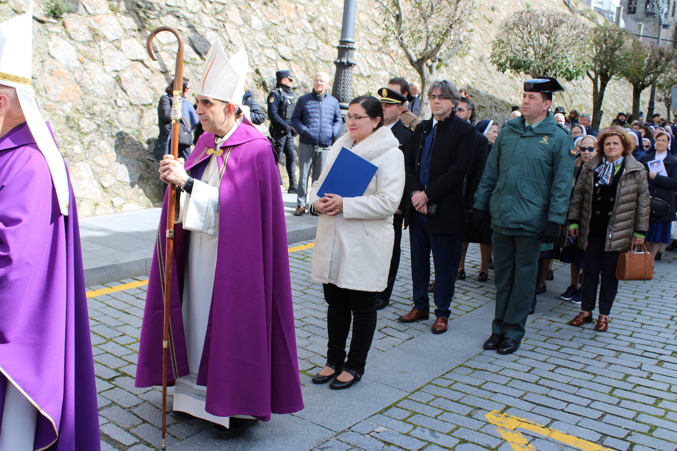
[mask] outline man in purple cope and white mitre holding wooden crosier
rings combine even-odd
[[[218,73],[229,62],[215,51],[223,53],[213,47],[207,60],[216,62],[208,68]],[[209,97],[200,95],[207,91],[204,77],[196,112],[205,133],[185,166],[166,155],[159,169],[160,179],[182,187],[174,230],[167,378],[175,386],[173,410],[211,421],[217,437],[231,438],[258,420],[268,421],[271,413],[301,410],[303,400],[274,153],[236,104],[242,93],[217,86]],[[215,82],[233,78],[219,76]],[[165,195],[137,387],[162,381],[168,201],[173,199]]]

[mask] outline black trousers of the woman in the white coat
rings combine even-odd
[[[327,363],[364,374],[369,348],[376,330],[376,293],[339,288],[324,283],[327,309]],[[345,345],[353,322],[353,339],[346,358]]]

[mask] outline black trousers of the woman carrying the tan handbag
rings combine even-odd
[[[588,233],[588,248],[583,254],[586,270],[583,272],[583,296],[581,310],[592,312],[599,287],[599,314],[608,315],[618,291],[616,266],[619,252],[604,250],[606,229],[591,229]],[[600,284],[600,276],[602,283]]]

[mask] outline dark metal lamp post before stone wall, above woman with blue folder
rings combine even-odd
[[[334,61],[336,64],[336,74],[334,75],[334,87],[332,95],[339,99],[341,110],[348,109],[348,102],[353,97],[353,55],[355,54],[355,2],[356,0],[344,0],[343,2],[343,24],[341,26],[341,39],[339,45],[339,56]]]

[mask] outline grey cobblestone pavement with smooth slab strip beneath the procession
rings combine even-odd
[[[309,276],[312,249],[292,252],[306,408],[229,442],[213,440],[206,422],[169,414],[167,449],[677,450],[675,254],[656,262],[653,281],[621,282],[607,333],[567,324],[579,309],[557,299],[569,272],[556,265],[521,348],[499,356],[481,350],[494,286],[493,274],[488,283],[476,280],[476,245],[468,250],[468,279],[456,283],[450,331],[431,334],[432,320],[395,321],[411,308],[407,235],[363,381],[339,392],[310,383],[325,362],[326,307]],[[104,451],[152,450],[160,442],[160,390],[133,386],[145,288],[89,299]]]

